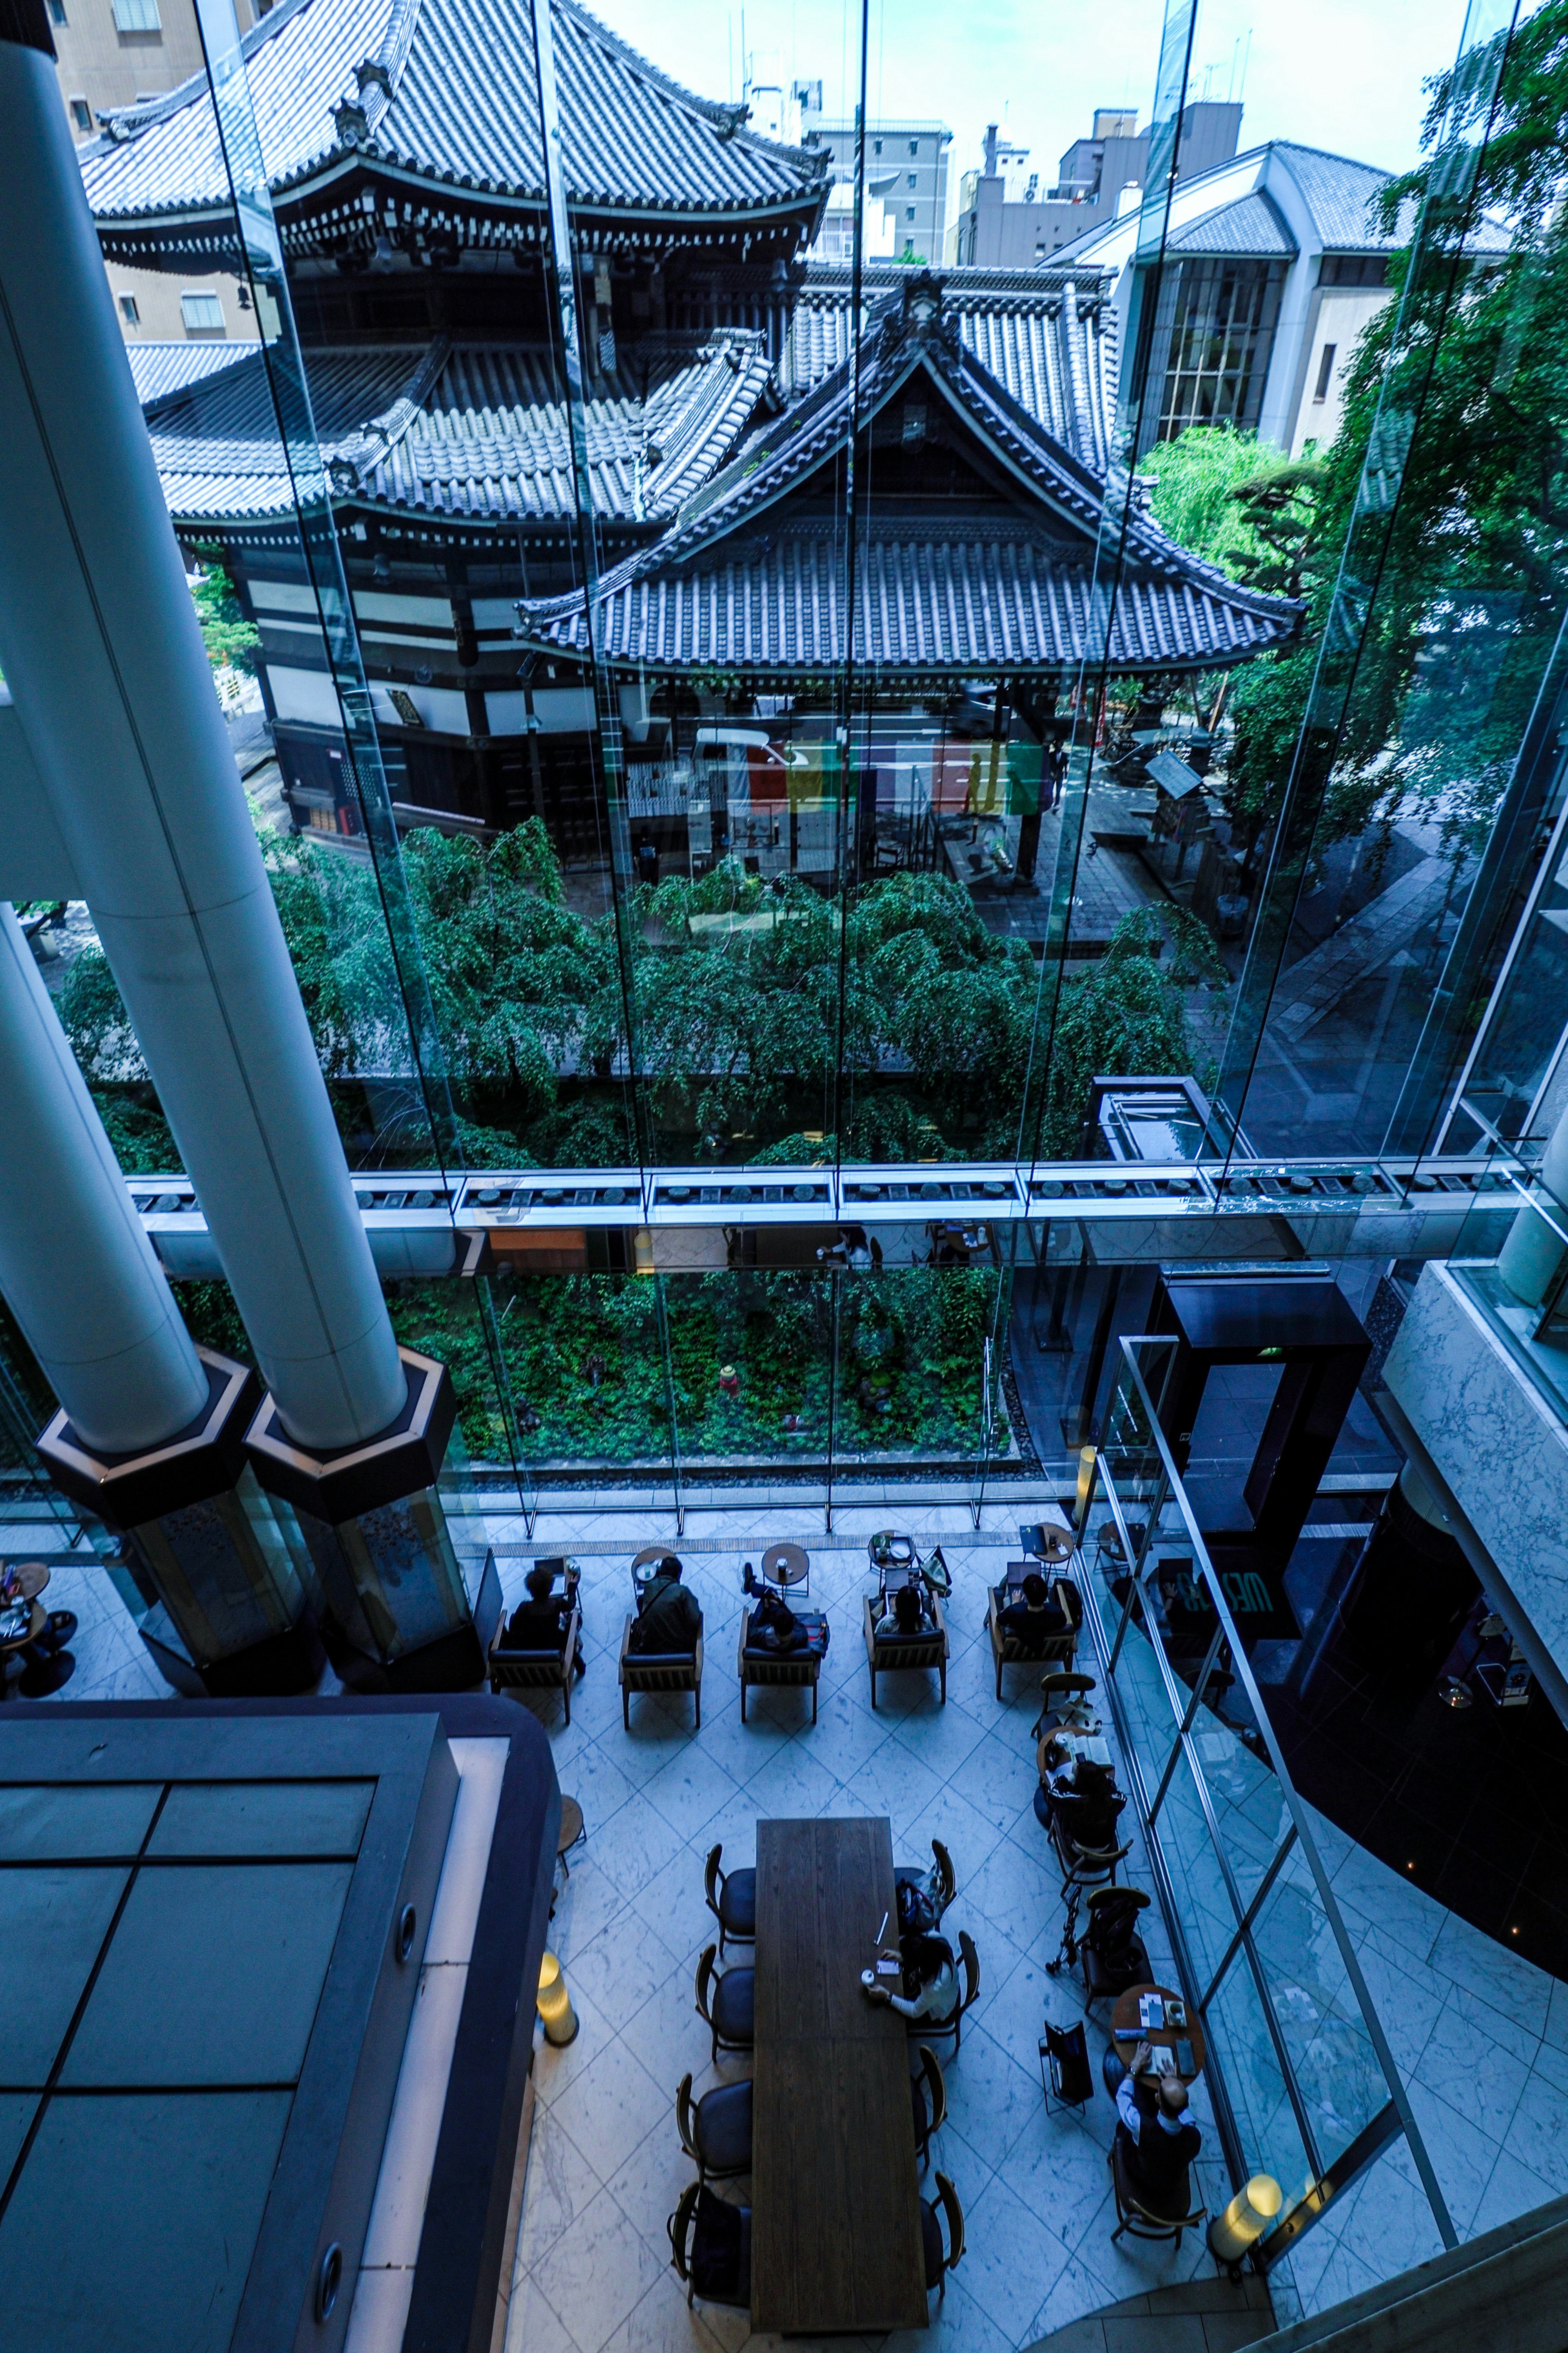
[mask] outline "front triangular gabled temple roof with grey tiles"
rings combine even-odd
[[[912,379],[924,374],[924,384]],[[844,362],[788,416],[762,426],[656,544],[604,574],[595,640],[654,671],[724,668],[820,678],[851,654],[844,539],[820,485],[851,433],[903,398],[964,442],[1006,496],[980,504],[877,496],[863,504],[853,659],[903,678],[954,671],[1063,675],[1093,652],[1103,475],[1053,440],[983,367],[945,311],[943,282],[905,275],[863,339],[858,386]],[[524,600],[524,635],[583,654],[581,595]],[[1112,619],[1117,671],[1208,671],[1286,642],[1302,607],[1239,588],[1135,508]]]

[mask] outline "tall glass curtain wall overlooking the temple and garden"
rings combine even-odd
[[[1048,1165],[1145,1148],[1100,1075],[1185,1082],[1171,1162],[1338,1155],[1354,1200],[1537,1155],[1556,7],[1469,12],[1425,146],[1413,61],[1394,179],[1258,146],[1239,21],[1175,0],[1060,176],[1074,125],[1025,169],[910,111],[870,7],[813,19],[820,80],[764,12],[654,64],[534,0],[369,52],[343,0],[202,24],[212,89],[132,111],[89,200],[110,271],[188,268],[183,200],[228,224],[256,339],[132,365],[397,1327],[475,1461],[1060,1459],[1171,1252],[1056,1207]],[[905,19],[933,106],[973,101],[969,33]],[[1051,87],[1058,31],[1018,40],[997,87]],[[54,929],[127,1172],[174,1181]],[[1065,1188],[1046,1224],[1020,1181]],[[181,1297],[237,1344],[212,1271]]]

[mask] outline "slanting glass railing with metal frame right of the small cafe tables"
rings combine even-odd
[[[1171,1339],[1121,1341],[1110,1435],[1081,1508],[1086,1621],[1180,1991],[1204,2021],[1227,2167],[1234,2186],[1255,2172],[1281,2181],[1284,2209],[1255,2249],[1269,2266],[1403,2139],[1436,2240],[1455,2247],[1309,1809],[1159,1424],[1150,1384],[1159,1388],[1171,1353]],[[1171,1572],[1187,1593],[1182,1614],[1199,1626],[1213,1614],[1197,1664],[1194,1645],[1182,1647],[1168,1621],[1161,1581]],[[1215,1675],[1220,1694],[1211,1699]],[[1246,1725],[1220,1713],[1232,1689],[1246,1701]],[[1413,2259],[1408,2245],[1389,2249],[1394,2271]]]

